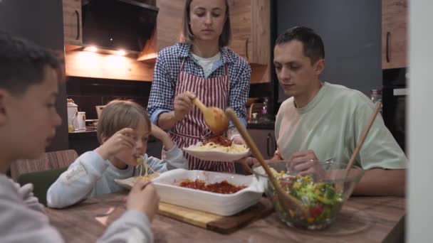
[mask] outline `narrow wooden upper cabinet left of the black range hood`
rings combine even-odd
[[[63,33],[66,45],[83,45],[81,0],[63,0]]]

